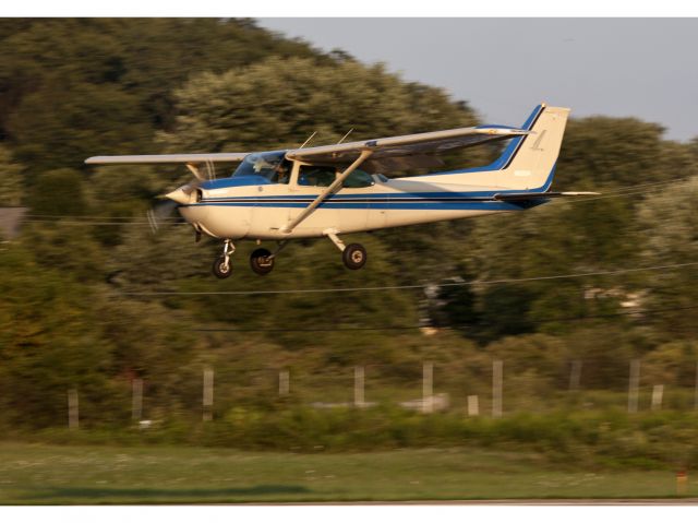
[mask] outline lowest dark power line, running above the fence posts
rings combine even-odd
[[[698,309],[698,305],[685,306],[685,307],[666,307],[662,309],[646,309],[634,310],[624,312],[612,312],[607,314],[591,314],[591,316],[576,316],[576,317],[561,317],[561,318],[541,318],[533,322],[533,325],[541,325],[542,323],[550,322],[575,322],[587,320],[599,320],[604,318],[618,318],[624,316],[658,316],[664,312],[673,312],[677,310],[690,310]],[[491,323],[478,323],[477,325],[447,325],[433,328],[431,325],[382,325],[382,326],[328,326],[328,328],[311,328],[311,329],[191,329],[192,332],[345,332],[345,331],[413,331],[419,329],[437,329],[441,331],[455,331],[469,329],[472,326],[486,326]]]

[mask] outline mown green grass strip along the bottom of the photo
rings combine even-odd
[[[686,496],[698,496],[689,477]],[[243,503],[669,498],[671,471],[562,469],[480,449],[353,454],[0,443],[0,503]]]

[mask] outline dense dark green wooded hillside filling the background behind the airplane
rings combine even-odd
[[[198,416],[206,367],[216,417],[232,425],[241,405],[277,413],[313,396],[348,400],[358,365],[389,400],[419,394],[421,364],[434,361],[436,388],[461,399],[454,405],[489,397],[493,359],[517,401],[553,401],[573,360],[583,362],[582,389],[625,390],[633,358],[643,390],[695,384],[698,141],[663,140],[636,119],[576,119],[555,189],[602,198],[363,235],[370,261],[356,273],[317,240],[291,245],[260,278],[246,269],[252,246],[240,245],[236,274],[220,282],[208,273],[219,245],[194,243],[185,225],[153,236],[145,221],[156,194],[189,178],[184,168],[91,169],[84,158],[277,148],[314,131],[315,143],[333,143],[349,129],[360,139],[470,126],[476,110],[246,20],[2,21],[0,39],[0,204],[29,207],[20,237],[0,247],[7,423],[64,425],[65,393],[77,389],[84,424],[125,426],[134,378],[146,383],[147,417]],[[423,287],[397,288],[413,285]],[[390,288],[244,294],[327,287]],[[142,294],[208,290],[241,294]],[[292,376],[284,399],[279,369]],[[264,432],[249,426],[248,439]]]

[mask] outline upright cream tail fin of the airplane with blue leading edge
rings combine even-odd
[[[506,189],[546,191],[553,182],[555,163],[567,124],[569,109],[535,108],[525,128],[531,133],[515,139],[493,164],[497,186]]]

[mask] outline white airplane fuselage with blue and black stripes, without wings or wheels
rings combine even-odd
[[[300,186],[293,177],[290,183],[249,186],[222,178],[202,183],[179,212],[196,230],[215,238],[284,240],[322,237],[328,230],[361,233],[530,206],[494,200],[494,194],[506,192],[502,187],[444,183],[437,178],[387,179],[373,175],[371,186],[342,188],[291,231],[285,231],[285,226],[317,198],[323,187]]]

